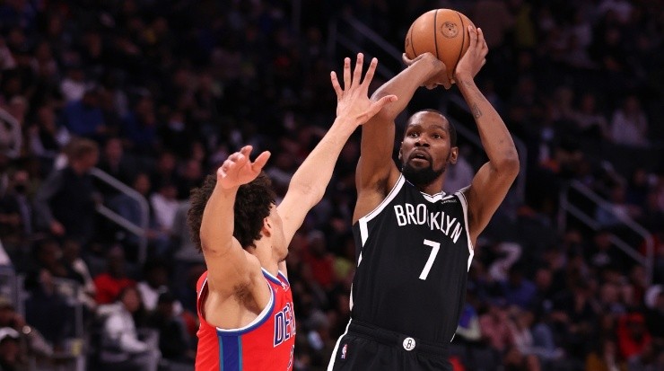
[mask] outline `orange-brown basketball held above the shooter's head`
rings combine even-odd
[[[434,9],[420,15],[406,33],[406,57],[413,59],[430,52],[445,64],[451,79],[470,44],[468,24],[475,26],[466,15],[452,9]]]

